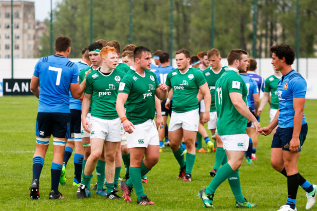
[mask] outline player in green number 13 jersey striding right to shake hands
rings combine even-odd
[[[228,179],[236,198],[236,208],[256,207],[248,202],[241,192],[238,168],[241,166],[244,152],[248,149],[249,137],[246,134],[247,119],[250,119],[257,131],[260,125],[250,112],[247,104],[247,86],[238,75],[239,70],[246,70],[247,52],[233,49],[229,52],[228,68],[216,82],[216,109],[218,115],[217,129],[223,143],[228,162],[222,165],[206,189],[198,192],[204,207],[213,206],[214,193],[219,185]]]

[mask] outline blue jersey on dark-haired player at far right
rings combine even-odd
[[[278,102],[278,127],[289,128],[294,127],[294,107],[293,98],[305,98],[307,83],[305,79],[295,70],[291,70],[284,75],[278,82],[277,96]],[[306,124],[303,112],[302,125]]]

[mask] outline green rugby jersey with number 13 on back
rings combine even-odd
[[[240,93],[246,105],[247,86],[235,68],[226,71],[216,82],[217,129],[219,135],[246,134],[247,119],[240,115],[233,105],[229,94]]]

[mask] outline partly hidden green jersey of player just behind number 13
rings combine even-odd
[[[222,66],[221,70],[218,73],[215,73],[212,68],[205,69],[202,74],[207,80],[209,91],[211,95],[211,105],[210,105],[210,112],[216,111],[216,104],[215,104],[215,87],[216,87],[216,81],[219,79],[219,77],[225,72],[225,67]]]

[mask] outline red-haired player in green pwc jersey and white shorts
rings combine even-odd
[[[106,46],[100,51],[102,66],[88,76],[85,96],[82,102],[82,126],[90,132],[91,154],[87,159],[82,183],[77,197],[86,197],[85,190],[90,185],[92,173],[96,168],[101,153],[105,152],[107,192],[97,190],[97,194],[110,199],[120,199],[114,191],[116,170],[115,157],[120,145],[121,121],[115,109],[119,82],[124,72],[116,70],[119,62],[117,50]],[[90,122],[86,116],[91,105]],[[90,127],[90,130],[87,128]],[[120,152],[120,151],[119,151]],[[121,158],[121,157],[120,157]]]

